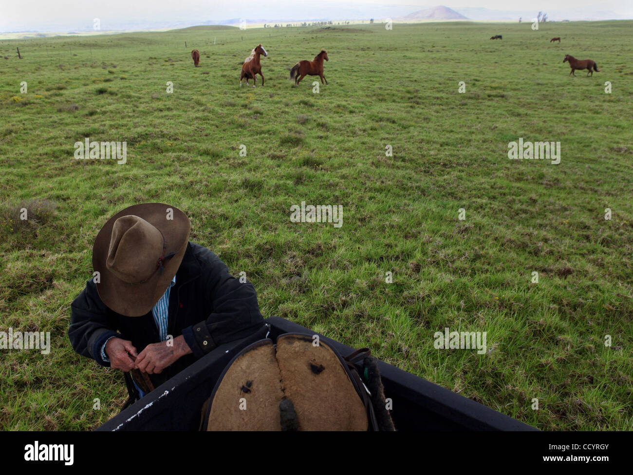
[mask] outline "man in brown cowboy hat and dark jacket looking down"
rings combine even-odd
[[[71,306],[75,352],[124,372],[139,369],[158,386],[261,329],[253,285],[189,242],[189,231],[185,214],[162,203],[130,206],[108,220],[92,248],[94,276]]]

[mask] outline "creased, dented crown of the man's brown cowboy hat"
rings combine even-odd
[[[106,267],[123,282],[141,283],[156,272],[164,245],[156,226],[139,216],[122,216],[112,227]]]

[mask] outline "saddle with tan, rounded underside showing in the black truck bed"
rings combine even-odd
[[[244,348],[222,372],[204,413],[207,431],[395,430],[370,351],[343,358],[299,333]]]

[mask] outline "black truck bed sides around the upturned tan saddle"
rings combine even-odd
[[[314,334],[280,317],[266,319],[272,338],[282,333]],[[242,348],[265,338],[268,328],[241,341],[218,346],[185,371],[130,405],[97,431],[196,431],[201,407],[224,367]],[[341,355],[354,348],[319,335]],[[385,396],[392,399],[392,419],[399,431],[536,431],[516,419],[489,409],[437,384],[379,360]]]

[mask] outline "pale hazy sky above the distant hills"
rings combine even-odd
[[[437,2],[437,3],[436,3]],[[169,22],[204,20],[228,20],[230,18],[279,18],[284,14],[306,15],[318,18],[319,11],[346,8],[367,11],[388,11],[374,6],[410,6],[416,9],[443,4],[449,8],[481,7],[489,9],[555,11],[587,8],[591,11],[610,10],[633,18],[632,0],[30,0],[18,2],[0,0],[0,31],[40,30],[60,26],[77,30],[92,27],[92,20],[99,18],[102,25],[123,24],[137,21]],[[398,13],[398,16],[401,13]],[[299,18],[297,18],[299,19]],[[308,19],[308,18],[306,18]],[[344,19],[344,18],[340,18]]]

